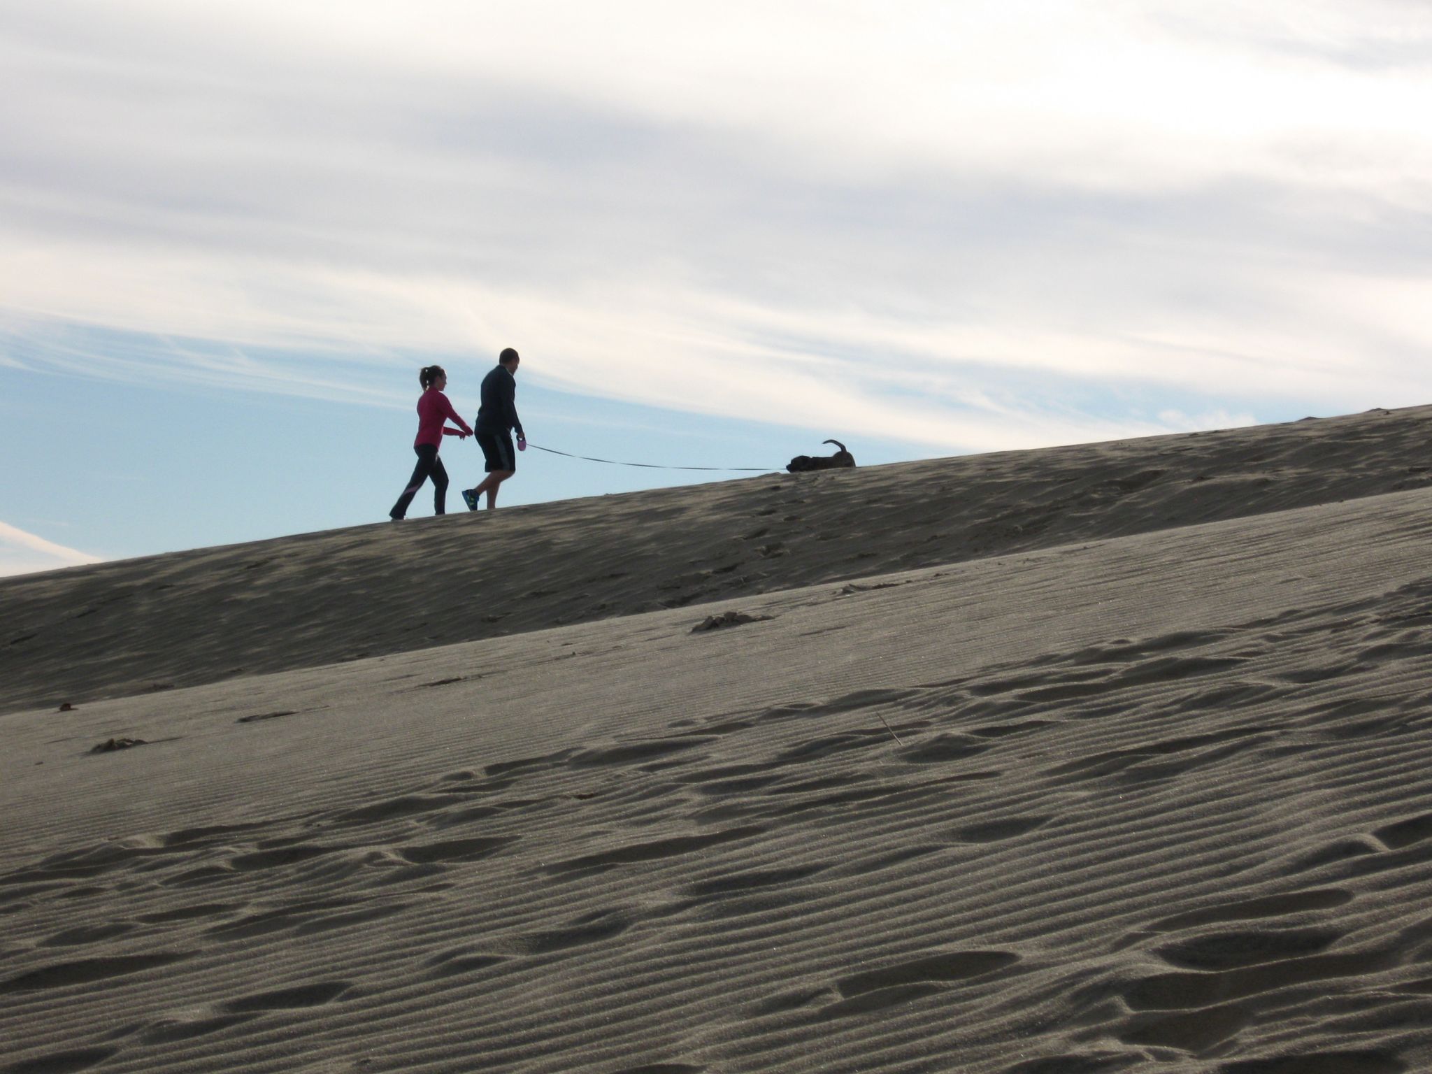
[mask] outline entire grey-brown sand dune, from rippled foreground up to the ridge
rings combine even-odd
[[[1429,1070],[1429,424],[0,583],[0,1070]]]

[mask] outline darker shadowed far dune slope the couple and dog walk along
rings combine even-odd
[[[1370,411],[4,579],[0,713],[1423,487],[1429,441],[1432,407]]]

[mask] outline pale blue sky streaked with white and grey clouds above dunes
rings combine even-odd
[[[388,524],[504,347],[667,465],[1418,405],[1429,239],[1422,0],[0,0],[0,574]]]

